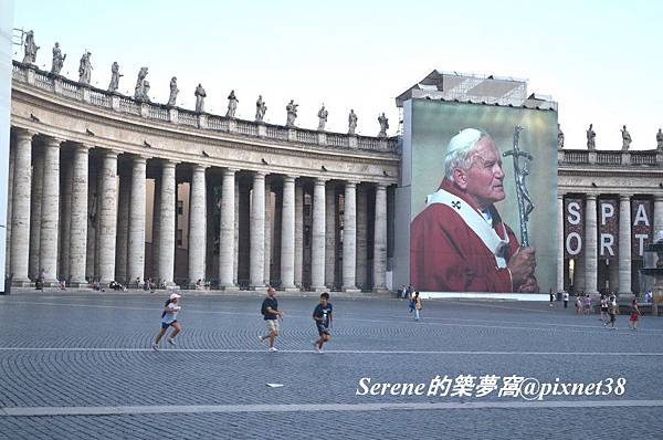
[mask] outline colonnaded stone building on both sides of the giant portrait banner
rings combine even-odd
[[[394,287],[398,137],[197,113],[15,61],[12,75],[6,272],[14,285],[42,275],[74,285]],[[474,91],[478,103],[498,91],[486,105],[550,105],[520,81],[471,78],[469,88],[449,74],[428,78],[397,105],[459,98],[453,90]],[[639,292],[642,247],[663,230],[663,151],[559,149],[557,208],[557,289]]]

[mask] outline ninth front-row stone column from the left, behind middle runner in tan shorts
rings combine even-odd
[[[265,245],[265,174],[253,175],[253,192],[251,195],[251,289],[264,287],[264,245]]]

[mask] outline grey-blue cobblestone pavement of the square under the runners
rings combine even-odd
[[[608,331],[560,303],[446,300],[424,302],[414,322],[404,301],[333,297],[334,338],[317,355],[316,300],[283,297],[280,352],[269,354],[260,297],[185,293],[177,347],[154,352],[165,298],[0,296],[0,439],[662,437],[663,318],[633,332],[622,315]],[[442,381],[428,396],[445,375],[449,392]],[[460,375],[477,378],[461,387]],[[487,375],[496,388],[476,397]],[[511,376],[560,395],[508,396]],[[357,395],[361,380],[424,391]]]

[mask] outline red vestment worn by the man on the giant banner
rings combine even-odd
[[[441,189],[465,200],[481,213],[453,182],[442,180]],[[493,229],[504,238],[502,218],[491,208]],[[518,250],[518,240],[504,224],[508,235],[506,262]],[[443,203],[431,203],[410,226],[410,283],[425,292],[513,292],[511,273],[497,268],[495,255],[465,223],[457,211]]]

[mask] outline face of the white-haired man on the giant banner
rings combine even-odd
[[[506,197],[499,151],[488,136],[483,137],[474,146],[472,165],[464,175],[464,189],[480,207],[485,208]]]

